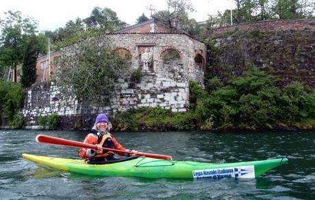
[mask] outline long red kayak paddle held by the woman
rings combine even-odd
[[[36,136],[36,142],[42,142],[42,143],[47,143],[47,144],[52,144],[52,145],[62,145],[62,146],[67,146],[67,147],[97,149],[96,145],[87,144],[84,142],[77,142],[77,141],[73,141],[73,140],[66,140],[63,138],[55,138],[52,136],[45,136],[42,134],[39,134]],[[114,152],[131,154],[130,151],[110,149],[110,148],[106,148],[106,147],[102,147],[102,149],[107,150],[107,151],[114,151]],[[160,155],[160,154],[142,153],[142,152],[138,152],[138,153],[136,153],[136,155],[140,155],[140,156],[144,156],[144,157],[148,157],[148,158],[157,158],[157,159],[162,159],[162,160],[172,160],[172,156],[170,156],[170,155]]]

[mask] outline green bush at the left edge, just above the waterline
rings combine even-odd
[[[0,80],[1,125],[8,125],[8,123],[12,121],[12,119],[14,119],[14,115],[16,115],[18,111],[21,109],[22,103],[23,88],[21,84],[3,82]]]

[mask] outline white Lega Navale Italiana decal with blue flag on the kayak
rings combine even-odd
[[[192,171],[192,176],[195,179],[222,179],[225,177],[255,178],[255,167],[248,165],[195,170]]]

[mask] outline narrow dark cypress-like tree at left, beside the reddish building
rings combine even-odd
[[[31,86],[36,82],[36,61],[40,47],[36,36],[31,37],[27,43],[25,55],[23,58],[21,84],[24,88]]]

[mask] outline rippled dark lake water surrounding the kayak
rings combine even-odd
[[[256,179],[144,179],[64,173],[21,153],[77,158],[78,149],[36,143],[37,134],[84,140],[86,132],[0,130],[0,199],[315,199],[315,132],[119,132],[124,147],[174,160],[240,162],[288,156]]]

